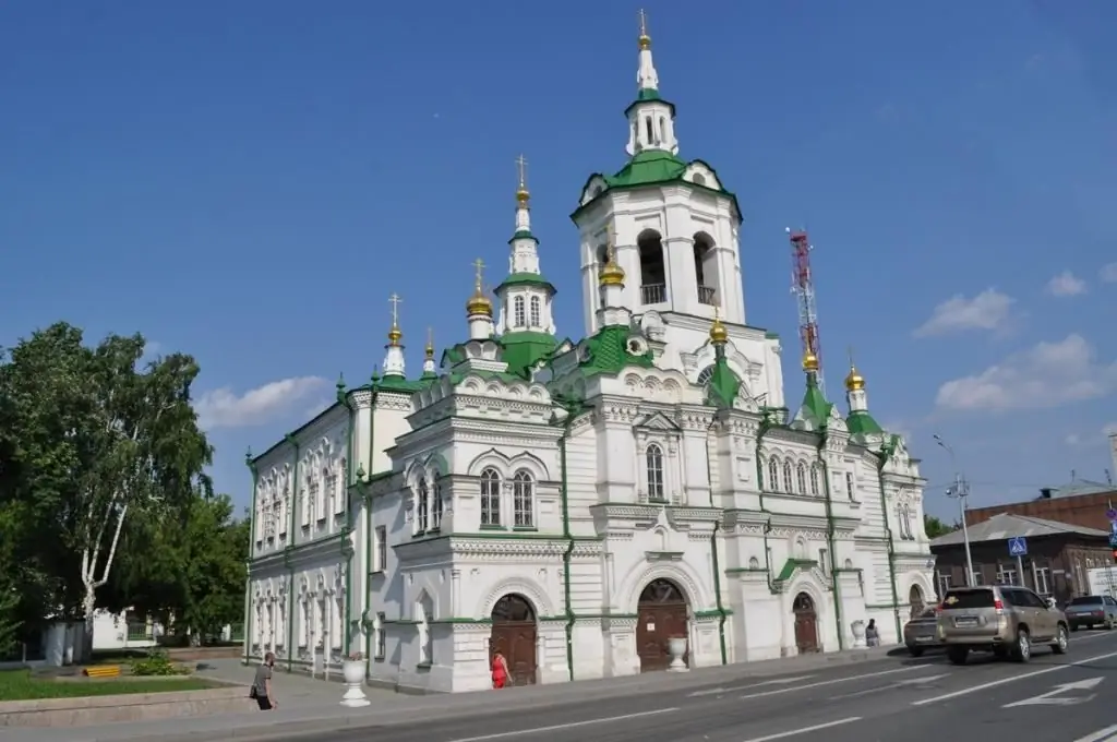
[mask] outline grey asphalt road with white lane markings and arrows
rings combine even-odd
[[[1020,665],[906,656],[582,702],[284,736],[299,742],[1117,742],[1117,631]]]

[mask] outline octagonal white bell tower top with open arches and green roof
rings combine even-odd
[[[601,329],[599,278],[610,263],[612,226],[612,260],[627,276],[621,304],[636,316],[665,315],[686,335],[678,342],[697,348],[708,342],[717,308],[731,335],[733,325],[745,324],[741,212],[713,168],[678,156],[675,105],[660,94],[642,11],[637,46],[637,96],[624,112],[629,161],[615,174],[590,177],[571,217],[581,236],[585,331]]]

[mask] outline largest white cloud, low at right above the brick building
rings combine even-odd
[[[1043,409],[1117,391],[1117,362],[1098,363],[1078,334],[1039,343],[981,373],[947,381],[935,403],[953,410]]]

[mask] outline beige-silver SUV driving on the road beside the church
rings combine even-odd
[[[938,636],[955,665],[965,664],[972,650],[1025,663],[1039,644],[1066,653],[1069,625],[1053,601],[1027,588],[994,584],[948,590],[938,609]]]

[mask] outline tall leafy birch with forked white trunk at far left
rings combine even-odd
[[[0,503],[27,525],[21,550],[46,587],[44,608],[83,617],[87,640],[125,524],[210,493],[212,451],[190,405],[198,365],[179,353],[141,365],[144,346],[137,334],[87,348],[58,323],[0,367],[0,451],[12,462]]]

